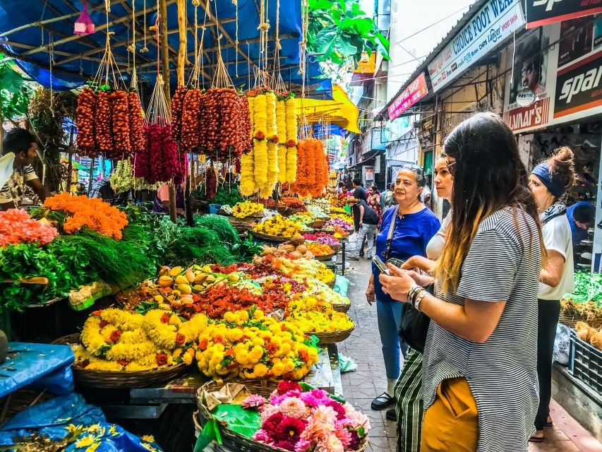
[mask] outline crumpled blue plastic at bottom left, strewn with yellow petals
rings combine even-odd
[[[100,443],[95,452],[161,451],[157,444],[143,441],[118,425],[108,424],[100,408],[85,403],[78,393],[59,396],[20,412],[0,427],[0,446],[12,446],[16,444],[13,439],[27,438],[35,433],[54,441],[61,440],[70,434],[70,425],[88,428],[88,432],[80,434],[79,439],[90,436],[95,443]],[[66,452],[81,452],[90,446],[82,444],[85,442],[74,442],[66,448]],[[18,448],[9,450],[17,451]]]

